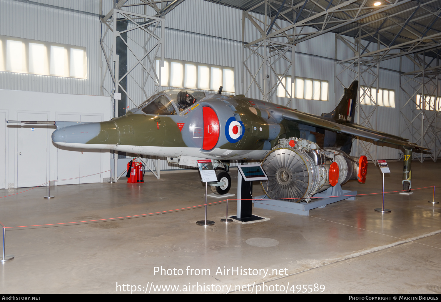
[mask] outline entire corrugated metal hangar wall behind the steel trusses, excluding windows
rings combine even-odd
[[[100,13],[100,1],[37,0],[37,2],[48,5],[42,6],[26,3],[25,1],[0,0],[0,34],[84,46],[87,49],[88,77],[87,79],[71,79],[0,72],[0,88],[100,95],[101,62],[104,61],[99,44],[101,24],[96,15]],[[50,5],[62,6],[68,10],[52,8]],[[112,1],[104,0],[102,5],[103,14],[106,14],[111,8]],[[131,10],[153,14],[151,9],[144,11],[143,8],[134,7]],[[264,18],[257,14],[253,16],[261,20]],[[235,93],[240,94],[247,89],[251,78],[247,72],[242,75],[242,45],[240,42],[242,40],[242,11],[203,0],[186,0],[164,18],[166,58],[233,67],[235,68]],[[250,42],[258,38],[259,35],[258,30],[246,20],[245,41]],[[129,46],[136,49],[137,55],[142,54],[140,43],[144,39],[142,33],[133,32],[129,34]],[[377,49],[377,44],[371,44],[369,49]],[[260,53],[263,51],[265,51],[263,47],[258,49]],[[247,56],[247,53],[245,55]],[[290,58],[290,56],[292,56],[292,53],[287,53],[287,57]],[[335,80],[335,59],[342,60],[353,56],[354,53],[343,42],[336,40],[333,33],[323,34],[317,38],[299,43],[295,49],[295,76],[329,81],[329,101],[294,99],[289,106],[318,115],[332,111],[343,93],[343,87]],[[128,65],[134,63],[133,59],[133,57],[129,57]],[[261,62],[258,58],[251,57],[247,64],[257,70]],[[287,61],[274,64],[275,71],[280,74],[287,66]],[[398,71],[400,69],[400,59],[396,58],[382,62],[381,68]],[[401,69],[403,72],[414,70],[414,64],[407,58],[402,58]],[[288,72],[288,75],[291,75],[290,72]],[[258,81],[263,83],[264,76],[262,71],[259,72],[257,75]],[[241,83],[243,77],[245,81]],[[354,77],[353,73],[346,72],[340,76],[340,79],[345,86],[348,86]],[[146,95],[142,94],[139,87],[137,87],[140,82],[139,79],[145,78],[146,72],[138,66],[127,79],[127,87],[133,91],[131,97],[136,105],[146,98]],[[369,80],[369,76],[366,79]],[[269,78],[269,84],[273,85],[276,82],[275,75],[272,75]],[[402,106],[400,103],[404,101],[403,96],[399,94],[400,75],[398,72],[382,69],[380,83],[381,88],[396,91],[396,108],[379,107],[378,113],[372,117],[371,123],[377,125],[378,130],[399,135],[400,107]],[[105,91],[104,94],[108,95],[108,92],[112,89],[109,76],[105,79],[105,86],[107,92]],[[153,91],[153,81],[148,81],[146,88],[147,94]],[[168,87],[162,88],[167,89]],[[281,105],[286,105],[289,100],[273,95],[273,102]],[[247,96],[262,98],[262,94],[254,84],[251,85]],[[369,107],[367,105],[363,106]],[[369,108],[366,110],[369,110]],[[409,114],[409,118],[411,118],[410,110],[405,114]],[[378,147],[378,152],[377,158],[393,159],[397,158],[398,155],[398,149],[391,147]],[[169,166],[164,160],[161,161],[161,170],[176,168]]]

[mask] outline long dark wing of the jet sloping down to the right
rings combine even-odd
[[[278,109],[277,113],[279,113],[283,118],[295,121],[300,124],[310,125],[313,127],[319,127],[330,131],[336,131],[346,134],[351,134],[354,136],[361,136],[370,140],[374,140],[376,142],[381,143],[391,143],[397,146],[408,147],[412,149],[420,149],[430,151],[430,149],[422,146],[418,146],[415,143],[409,143],[407,141],[402,140],[399,136],[388,137],[385,135],[381,135],[384,132],[377,132],[375,130],[370,129],[371,131],[366,131],[361,127],[355,128],[352,127],[354,124],[338,124],[333,121],[328,121],[325,119],[321,119],[320,117],[316,117],[307,113],[299,112],[299,111],[291,111],[287,109]],[[357,125],[359,126],[359,125]],[[385,133],[386,134],[386,133]],[[395,138],[394,138],[395,137]],[[398,139],[399,138],[399,139]]]

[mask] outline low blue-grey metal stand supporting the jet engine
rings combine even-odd
[[[357,191],[343,190],[341,189],[340,183],[337,183],[335,186],[328,188],[326,191],[315,194],[313,196],[314,198],[321,199],[311,201],[310,203],[306,203],[305,201],[296,203],[284,200],[260,200],[264,197],[264,195],[256,197],[253,202],[254,208],[307,216],[309,215],[309,210],[315,208],[325,208],[327,204],[332,204],[340,200],[355,200],[355,195],[357,195]]]

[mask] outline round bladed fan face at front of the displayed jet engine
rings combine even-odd
[[[265,157],[262,167],[268,176],[269,198],[302,198],[308,191],[308,166],[297,152],[291,149],[276,149]],[[263,184],[262,189],[266,191]],[[289,201],[300,202],[301,199]]]

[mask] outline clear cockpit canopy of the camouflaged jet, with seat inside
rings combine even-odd
[[[205,98],[202,91],[168,89],[151,96],[138,106],[142,112],[154,115],[174,115]]]

